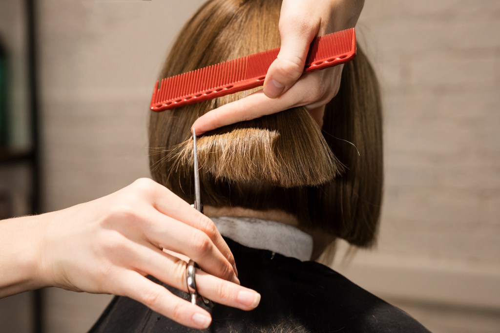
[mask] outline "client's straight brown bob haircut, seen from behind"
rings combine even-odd
[[[160,77],[279,46],[280,7],[281,0],[207,1],[180,31]],[[192,201],[190,126],[247,93],[151,112],[152,177]],[[326,105],[322,130],[296,107],[198,137],[203,203],[279,209],[295,215],[303,229],[370,246],[380,214],[381,125],[378,83],[358,47],[354,60],[344,64],[337,95]]]

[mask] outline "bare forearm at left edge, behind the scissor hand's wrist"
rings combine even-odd
[[[46,286],[39,274],[44,215],[0,221],[0,298]]]

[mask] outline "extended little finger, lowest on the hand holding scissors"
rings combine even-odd
[[[139,273],[126,270],[121,277],[117,294],[133,298],[184,326],[206,328],[210,325],[211,317],[207,311],[173,295]]]

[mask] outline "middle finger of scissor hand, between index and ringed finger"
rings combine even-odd
[[[151,212],[146,218],[155,223],[144,230],[144,235],[158,248],[187,255],[210,274],[239,283],[232,264],[206,233],[158,211]]]

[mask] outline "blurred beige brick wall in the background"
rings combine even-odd
[[[201,3],[37,2],[44,211],[148,176],[152,85]],[[1,1],[0,35],[25,79],[22,10]],[[384,202],[377,247],[346,257],[341,244],[333,268],[435,332],[498,332],[500,2],[366,1],[357,28],[383,91]],[[22,297],[0,300],[0,331],[29,329]],[[109,299],[46,289],[46,330],[86,331]]]

